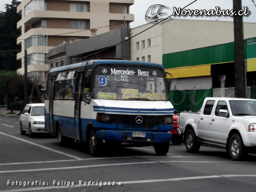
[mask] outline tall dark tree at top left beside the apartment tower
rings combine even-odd
[[[19,50],[17,37],[21,30],[17,29],[17,22],[21,15],[17,14],[17,7],[21,2],[12,0],[12,4],[5,4],[5,12],[0,12],[0,70],[15,71],[21,62],[16,60],[17,52],[4,52],[6,50]]]

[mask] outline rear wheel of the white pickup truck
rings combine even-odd
[[[189,129],[185,138],[186,149],[189,153],[197,153],[201,143],[196,140],[196,134],[192,129]]]

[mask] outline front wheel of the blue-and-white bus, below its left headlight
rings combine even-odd
[[[89,147],[92,156],[98,156],[102,148],[102,140],[97,138],[94,130],[90,133]]]

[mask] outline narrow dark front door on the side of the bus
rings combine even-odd
[[[80,139],[80,107],[81,107],[81,94],[84,93],[82,90],[82,81],[83,80],[83,72],[78,73],[78,81],[77,81],[77,86],[76,86],[76,96],[75,96],[75,141],[79,140],[82,142]]]

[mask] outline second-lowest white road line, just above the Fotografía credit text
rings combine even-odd
[[[89,168],[89,167],[105,167],[105,166],[152,164],[152,163],[157,163],[157,162],[155,162],[155,161],[148,161],[148,162],[135,162],[135,163],[116,163],[116,164],[85,165],[85,166],[76,166],[76,167],[56,167],[56,168],[44,168],[44,169],[13,170],[13,171],[0,171],[0,173],[32,172],[32,171],[78,169],[78,168],[81,169],[81,168]]]

